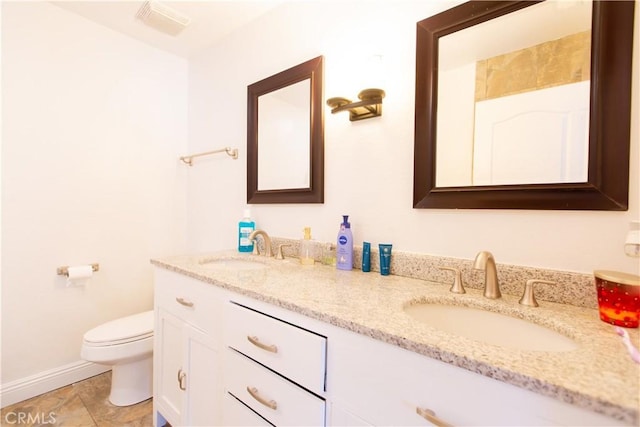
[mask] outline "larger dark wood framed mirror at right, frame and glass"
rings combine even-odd
[[[414,207],[626,210],[634,7],[470,1],[418,22]]]

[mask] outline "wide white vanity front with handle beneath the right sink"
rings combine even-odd
[[[376,426],[624,425],[363,335],[332,332],[331,342],[332,424],[355,414]]]

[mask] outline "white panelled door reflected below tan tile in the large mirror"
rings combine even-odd
[[[589,81],[476,103],[473,185],[586,182]]]

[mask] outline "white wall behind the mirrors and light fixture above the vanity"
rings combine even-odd
[[[456,2],[459,3],[459,2]],[[639,217],[638,117],[640,5],[636,7],[627,212],[430,210],[412,208],[416,22],[452,2],[295,2],[273,10],[190,61],[190,151],[240,148],[189,171],[189,249],[236,245],[246,203],[246,87],[318,55],[325,56],[325,99],[355,98],[367,87],[367,55],[384,55],[384,114],[349,122],[325,109],[325,203],[254,205],[259,228],[333,241],[342,214],[351,215],[357,243],[471,259],[491,250],[499,263],[590,273],[638,273],[623,252],[629,221]],[[455,126],[455,121],[451,126]]]

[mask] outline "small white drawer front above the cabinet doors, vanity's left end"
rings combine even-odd
[[[219,290],[199,280],[158,270],[154,298],[156,307],[205,333],[214,333],[221,323],[224,300]]]

